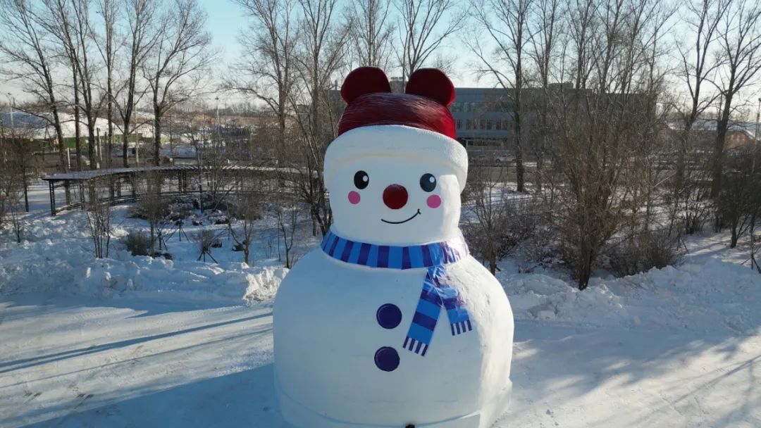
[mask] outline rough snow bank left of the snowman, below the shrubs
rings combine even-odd
[[[0,293],[76,293],[113,296],[132,292],[161,294],[164,299],[253,303],[271,299],[288,272],[278,265],[249,266],[224,260],[240,257],[224,249],[220,264],[196,262],[195,246],[172,243],[181,260],[133,257],[112,239],[111,258],[96,259],[84,232],[84,214],[29,220],[24,241],[0,239]],[[138,220],[135,220],[138,221]],[[116,235],[126,234],[122,227]],[[223,250],[220,250],[223,251]],[[229,254],[228,254],[229,253]]]

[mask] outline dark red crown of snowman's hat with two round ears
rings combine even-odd
[[[347,106],[339,122],[339,135],[369,125],[405,125],[455,138],[449,105],[454,85],[435,68],[420,68],[409,76],[406,94],[392,94],[380,68],[360,67],[349,73],[341,87]]]

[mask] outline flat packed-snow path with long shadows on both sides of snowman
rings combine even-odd
[[[267,306],[31,302],[0,300],[0,426],[282,426]],[[761,331],[517,322],[513,367],[500,428],[761,426]]]

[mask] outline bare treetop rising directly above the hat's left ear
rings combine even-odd
[[[355,2],[352,14],[352,45],[360,66],[388,68],[391,36],[396,27],[390,21],[390,0]]]

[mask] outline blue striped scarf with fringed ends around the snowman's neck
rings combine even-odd
[[[321,247],[330,257],[368,268],[426,269],[418,306],[404,339],[406,350],[425,357],[441,308],[447,311],[453,336],[473,330],[460,292],[447,284],[447,265],[468,255],[461,235],[422,246],[383,246],[345,239],[330,230]]]

